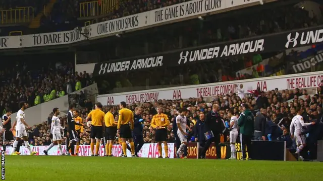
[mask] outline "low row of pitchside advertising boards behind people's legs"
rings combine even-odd
[[[33,146],[32,150],[37,151],[37,155],[45,155],[43,151],[48,146]],[[63,145],[63,152],[66,151],[66,146]],[[164,148],[164,145],[162,145]],[[170,158],[175,158],[176,156],[176,146],[174,143],[168,143],[168,154]],[[12,147],[7,147],[6,154],[10,154]],[[199,143],[188,143],[187,147],[187,157],[192,159],[197,159],[199,153],[201,151],[201,147]],[[237,159],[240,160],[242,158],[241,153],[241,144],[236,143],[237,149]],[[0,147],[2,150],[2,147]],[[286,150],[286,142],[284,141],[252,141],[252,159],[256,160],[280,160],[286,161],[288,157],[288,152]],[[20,147],[21,155],[29,155],[29,151],[25,148],[25,146]],[[104,156],[104,145],[100,145],[99,155]],[[60,155],[61,152],[58,149],[58,146],[52,147],[48,151],[48,155]],[[122,155],[122,147],[121,145],[113,145],[112,154],[114,156]],[[90,145],[80,145],[79,156],[91,156]],[[127,150],[127,156],[131,156],[131,152]],[[146,143],[142,146],[141,150],[138,152],[139,157],[143,158],[158,158],[159,153],[157,149],[157,143]],[[231,156],[231,149],[229,143],[223,143],[221,146],[221,159],[228,159]],[[163,150],[163,157],[165,157],[165,152]],[[209,149],[206,151],[205,157],[207,159],[216,159],[217,158],[217,148],[214,143],[211,144]],[[248,149],[246,153],[246,157],[248,158]],[[288,159],[289,160],[289,159]]]

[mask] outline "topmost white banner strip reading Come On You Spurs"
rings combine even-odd
[[[165,8],[155,9],[123,18],[92,24],[87,28],[90,39],[112,36],[129,30],[149,28],[160,23],[183,21],[187,18],[214,13],[220,10],[230,10],[240,6],[254,4],[258,0],[193,0]],[[250,5],[251,6],[251,5]],[[22,36],[0,37],[0,49],[26,48],[47,45],[65,45],[85,40],[77,30],[42,33]]]

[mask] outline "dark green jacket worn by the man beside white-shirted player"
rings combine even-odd
[[[238,126],[240,127],[240,133],[243,135],[252,136],[254,132],[254,118],[249,109],[240,114],[238,120]]]

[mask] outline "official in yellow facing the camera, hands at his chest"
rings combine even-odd
[[[161,148],[161,142],[164,143],[165,158],[168,157],[168,135],[167,135],[167,126],[170,125],[170,120],[168,116],[163,112],[161,107],[157,108],[157,114],[152,117],[151,126],[156,129],[155,141],[158,143],[158,158],[163,158],[163,152]]]

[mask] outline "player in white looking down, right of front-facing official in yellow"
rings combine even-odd
[[[184,149],[186,149],[187,135],[188,135],[186,133],[186,129],[190,130],[190,128],[187,126],[187,118],[185,116],[186,113],[187,113],[187,109],[180,109],[179,115],[176,117],[177,135],[181,141],[181,145],[176,153],[178,158],[183,154]]]

